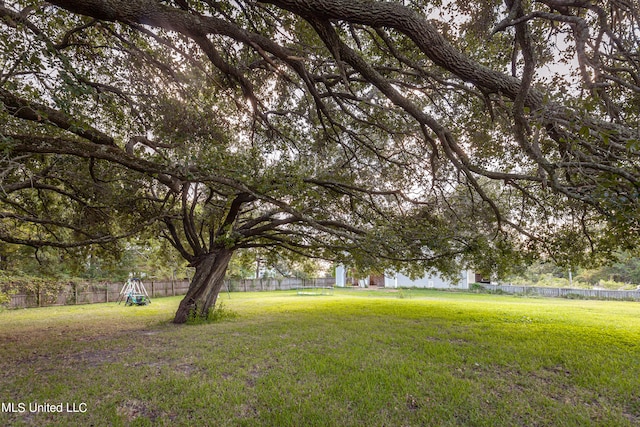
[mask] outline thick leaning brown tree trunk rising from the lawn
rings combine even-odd
[[[206,254],[194,265],[196,274],[189,284],[187,294],[180,302],[173,323],[185,323],[190,316],[205,319],[215,306],[218,293],[233,251],[223,248]]]

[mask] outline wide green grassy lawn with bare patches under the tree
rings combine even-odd
[[[0,312],[0,425],[640,425],[638,303],[221,299],[237,317],[180,327],[177,297]]]

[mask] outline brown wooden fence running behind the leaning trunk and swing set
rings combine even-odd
[[[184,295],[189,289],[188,280],[147,280],[144,286],[153,299],[174,295]],[[243,279],[225,280],[221,292],[254,292],[291,290],[301,286],[333,286],[335,279]],[[47,307],[52,305],[95,304],[114,302],[120,296],[124,283],[70,283],[55,293],[44,289],[11,294],[9,308]]]

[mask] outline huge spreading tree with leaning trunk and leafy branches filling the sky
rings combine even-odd
[[[0,239],[146,230],[206,315],[239,249],[491,271],[640,234],[625,1],[0,5]]]

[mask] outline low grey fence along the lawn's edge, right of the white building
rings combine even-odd
[[[584,298],[604,300],[640,301],[640,291],[613,291],[608,289],[541,288],[535,286],[489,285],[482,287],[492,292],[504,292],[518,295],[539,295],[556,298]]]

